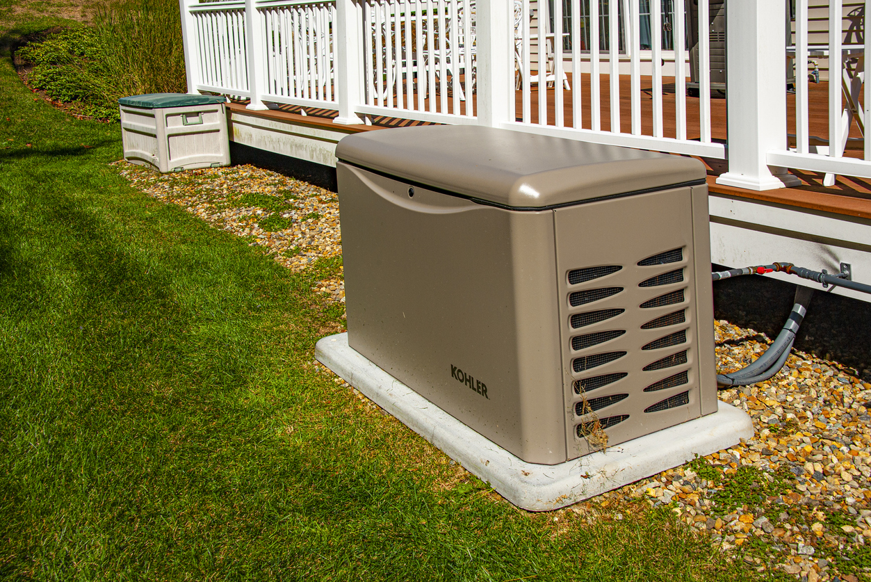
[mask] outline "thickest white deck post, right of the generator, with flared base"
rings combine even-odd
[[[798,186],[786,168],[766,165],[787,149],[786,3],[730,0],[726,10],[726,112],[729,171],[723,186],[771,190]]]

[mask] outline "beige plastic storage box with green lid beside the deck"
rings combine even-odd
[[[229,166],[225,102],[183,93],[118,99],[124,159],[159,172]]]

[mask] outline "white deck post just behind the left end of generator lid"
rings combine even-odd
[[[339,102],[339,117],[334,123],[356,125],[363,120],[354,112],[362,103],[361,42],[362,6],[354,0],[335,0],[335,97]]]

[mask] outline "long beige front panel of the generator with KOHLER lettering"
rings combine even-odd
[[[552,212],[337,175],[350,346],[517,457],[563,462]]]

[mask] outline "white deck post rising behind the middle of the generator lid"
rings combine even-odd
[[[478,0],[476,35],[478,125],[497,127],[514,121],[509,101],[514,98],[513,2]]]

